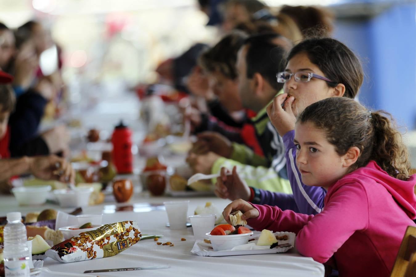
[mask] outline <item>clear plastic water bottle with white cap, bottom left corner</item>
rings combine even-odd
[[[30,253],[26,241],[26,227],[22,223],[22,214],[19,212],[7,213],[3,250],[6,277],[30,276]]]

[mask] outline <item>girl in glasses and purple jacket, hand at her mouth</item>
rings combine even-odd
[[[296,116],[310,104],[325,98],[357,96],[363,81],[362,67],[357,56],[342,42],[331,38],[307,39],[292,48],[286,69],[277,74],[277,81],[284,83],[285,93],[275,97],[267,113],[285,144],[287,174],[293,194],[248,187],[235,169],[229,175],[226,168],[221,169],[215,194],[230,200],[241,198],[256,204],[277,205],[282,210],[317,214],[324,207],[327,191],[302,183],[293,142]]]

